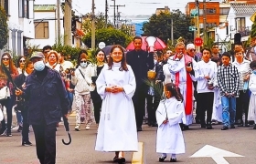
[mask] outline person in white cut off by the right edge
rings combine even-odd
[[[256,60],[250,63],[252,73],[249,80],[249,89],[251,91],[249,109],[248,109],[248,121],[253,121],[253,129],[256,129]]]

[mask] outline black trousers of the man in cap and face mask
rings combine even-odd
[[[56,123],[49,125],[32,125],[36,146],[37,159],[41,164],[56,163]]]

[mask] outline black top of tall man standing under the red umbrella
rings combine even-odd
[[[133,69],[136,87],[141,87],[144,84],[144,79],[147,79],[147,71],[155,66],[153,53],[144,50],[129,51],[126,54],[126,61]]]

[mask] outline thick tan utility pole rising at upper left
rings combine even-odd
[[[64,46],[71,46],[71,8],[72,0],[65,0]]]

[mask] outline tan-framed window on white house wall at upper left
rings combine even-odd
[[[35,38],[48,39],[48,22],[35,22]]]

